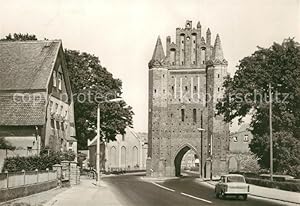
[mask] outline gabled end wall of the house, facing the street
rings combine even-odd
[[[68,89],[69,78],[63,62],[63,52],[60,51],[50,78],[45,127],[45,146],[59,151],[67,150],[67,138],[75,136],[74,105],[72,92]]]

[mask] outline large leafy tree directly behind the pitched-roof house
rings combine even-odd
[[[122,95],[121,80],[114,79],[94,55],[74,50],[65,50],[65,55],[74,93],[79,148],[85,149],[87,140],[96,135],[98,103],[101,109],[101,138],[111,141],[117,134],[125,134],[125,128],[132,126],[132,108],[124,101],[105,102]]]

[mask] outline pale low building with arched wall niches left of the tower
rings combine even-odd
[[[101,144],[101,168],[105,170],[135,170],[146,168],[147,143],[132,129],[125,135],[117,135],[116,141]],[[96,168],[97,138],[88,141],[90,166]]]

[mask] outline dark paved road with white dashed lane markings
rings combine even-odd
[[[216,199],[214,190],[205,184],[195,182],[194,177],[168,180],[153,184],[145,182],[140,176],[106,177],[113,192],[117,194],[122,205],[128,206],[279,206],[271,201],[249,197],[247,201]]]

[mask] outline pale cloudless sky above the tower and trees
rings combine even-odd
[[[31,33],[61,39],[64,48],[99,57],[123,82],[123,97],[133,107],[134,129],[147,131],[148,62],[158,35],[186,20],[219,33],[228,71],[257,46],[294,37],[300,41],[300,0],[0,0],[0,37]],[[233,124],[232,130],[237,125]]]

